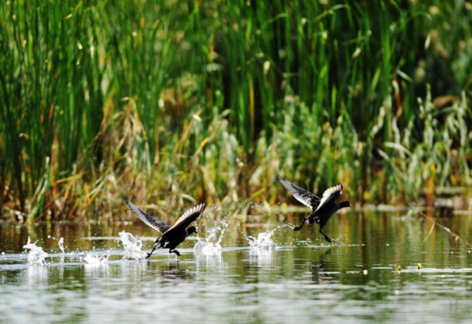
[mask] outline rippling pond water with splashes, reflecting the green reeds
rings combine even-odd
[[[470,323],[471,249],[405,215],[334,216],[325,232],[337,244],[280,215],[204,216],[180,258],[149,260],[158,235],[139,220],[2,224],[0,322]],[[470,215],[437,219],[472,240]]]

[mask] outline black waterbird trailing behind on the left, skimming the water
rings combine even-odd
[[[135,213],[137,217],[139,217],[151,228],[154,228],[154,230],[162,233],[162,235],[158,237],[156,241],[154,241],[154,249],[152,249],[151,253],[147,254],[146,258],[149,258],[155,249],[169,249],[169,253],[175,253],[176,255],[180,256],[179,251],[177,251],[175,248],[180,243],[184,242],[187,236],[197,232],[197,229],[193,226],[190,226],[190,228],[187,228],[187,226],[199,219],[206,208],[205,203],[194,206],[183,213],[183,215],[180,216],[173,226],[169,226],[163,221],[144,212],[141,208],[133,204],[130,199],[128,199],[128,197],[125,198],[125,201],[128,207],[130,207],[132,212]]]

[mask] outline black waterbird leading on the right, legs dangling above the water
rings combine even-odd
[[[277,180],[285,189],[293,194],[295,199],[313,210],[309,216],[304,218],[302,224],[293,230],[302,230],[303,225],[305,224],[320,224],[320,233],[325,237],[326,241],[337,242],[335,239],[325,235],[321,230],[325,227],[326,223],[328,223],[328,220],[330,220],[330,218],[341,208],[352,207],[349,201],[342,201],[339,204],[336,202],[337,197],[342,194],[342,185],[338,184],[326,189],[325,192],[323,192],[323,197],[320,198],[316,196],[316,194],[312,194],[311,192],[294,185],[289,180],[280,177],[280,175],[277,175]]]

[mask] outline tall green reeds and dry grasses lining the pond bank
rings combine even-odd
[[[155,2],[0,1],[2,214],[471,185],[470,2]]]

